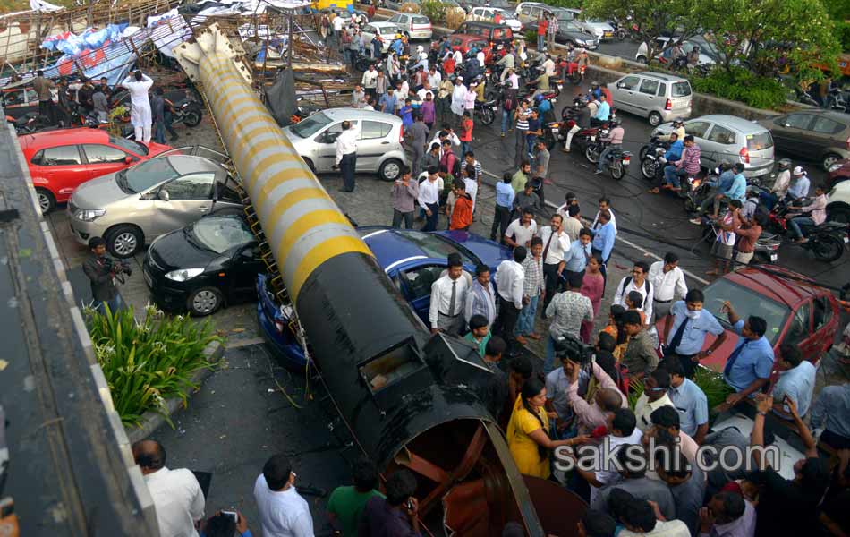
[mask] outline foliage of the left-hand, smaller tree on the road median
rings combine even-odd
[[[677,42],[701,33],[702,0],[587,0],[584,11],[591,17],[625,21],[632,17],[639,28],[640,39],[647,44],[647,59],[665,52]],[[663,45],[658,38],[676,35]]]

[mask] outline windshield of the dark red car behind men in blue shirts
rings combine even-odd
[[[703,307],[710,311],[726,328],[730,328],[729,320],[725,311],[720,311],[724,301],[729,301],[735,307],[735,312],[746,320],[751,315],[757,315],[768,321],[768,331],[764,337],[768,338],[770,345],[775,345],[779,332],[785,326],[785,321],[791,313],[791,309],[785,304],[770,300],[752,289],[739,286],[728,279],[719,279],[710,286],[703,289],[705,303]]]

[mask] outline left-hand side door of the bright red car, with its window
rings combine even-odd
[[[35,186],[53,192],[57,201],[66,200],[87,179],[86,165],[76,145],[38,151],[30,159],[30,176]]]

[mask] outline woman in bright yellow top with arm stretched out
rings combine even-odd
[[[542,479],[547,479],[550,473],[550,451],[556,447],[581,444],[588,439],[586,436],[568,440],[550,439],[545,404],[546,385],[543,380],[540,377],[526,380],[520,396],[516,398],[506,433],[507,446],[520,473]]]

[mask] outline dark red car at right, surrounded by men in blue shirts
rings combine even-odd
[[[765,337],[777,356],[779,345],[789,343],[798,346],[806,360],[816,363],[835,341],[838,331],[835,297],[811,278],[786,268],[775,265],[742,268],[719,278],[702,292],[705,294],[703,308],[727,328],[724,344],[700,361],[712,370],[723,371],[738,341],[727,314],[720,311],[727,300],[744,321],[750,315],[767,320]],[[664,320],[659,320],[656,328],[663,336]],[[702,348],[709,348],[714,340],[715,337],[709,335]]]

